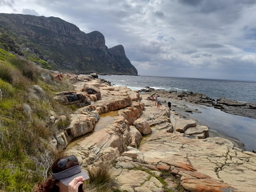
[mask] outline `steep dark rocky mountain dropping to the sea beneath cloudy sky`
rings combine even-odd
[[[103,34],[88,34],[56,17],[0,14],[0,33],[17,42],[10,50],[26,58],[38,57],[53,70],[74,73],[137,75],[124,47],[108,48]],[[2,41],[1,41],[2,39]],[[12,40],[11,40],[12,41]],[[8,44],[7,38],[0,43]],[[9,44],[8,44],[9,45]],[[40,64],[40,63],[39,63]]]

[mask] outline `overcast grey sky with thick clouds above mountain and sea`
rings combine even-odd
[[[138,75],[256,81],[256,0],[0,0],[0,12],[99,31]]]

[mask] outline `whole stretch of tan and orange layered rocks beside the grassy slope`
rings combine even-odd
[[[72,115],[70,126],[52,143],[64,149],[70,140],[90,133],[65,153],[76,154],[84,168],[114,164],[120,190],[164,192],[157,179],[163,172],[171,172],[191,192],[251,192],[256,188],[256,154],[242,152],[224,138],[207,138],[207,127],[198,132],[196,122],[180,118],[166,106],[158,110],[155,102],[127,87],[92,78],[76,83],[74,91],[80,93],[88,86],[100,96],[97,91],[84,93],[91,103]],[[95,131],[100,114],[114,110],[118,115]],[[184,137],[191,129],[198,135]],[[165,182],[170,190],[176,185],[168,177]]]

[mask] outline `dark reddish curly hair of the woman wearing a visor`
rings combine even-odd
[[[59,173],[64,170],[67,170],[71,167],[74,167],[79,164],[78,161],[74,162],[71,160],[68,160],[68,164],[64,167],[59,167],[58,162],[62,158],[68,158],[68,156],[63,156],[61,158],[58,158],[53,164],[52,164],[52,173]],[[56,185],[56,183],[59,182],[59,180],[55,180],[50,176],[50,178],[46,179],[44,182],[40,182],[35,188],[33,192],[58,192],[59,187]],[[83,185],[81,184],[78,188],[78,192],[84,192]]]

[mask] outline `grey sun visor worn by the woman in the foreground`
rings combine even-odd
[[[60,180],[64,185],[68,186],[68,184],[76,177],[83,176],[84,180],[89,179],[88,174],[81,170],[81,166],[76,165],[67,170],[64,170],[59,173],[52,173],[52,177],[56,180]]]

